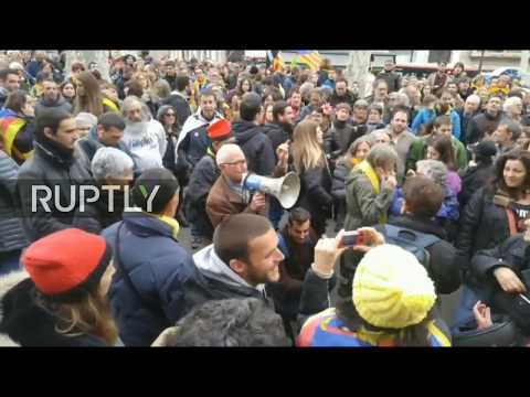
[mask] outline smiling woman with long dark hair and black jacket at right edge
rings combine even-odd
[[[473,319],[473,307],[477,300],[488,301],[469,272],[471,257],[480,249],[499,246],[507,238],[523,232],[529,214],[530,153],[516,149],[497,160],[494,181],[476,191],[462,213],[456,246],[465,285],[456,313],[456,328]]]

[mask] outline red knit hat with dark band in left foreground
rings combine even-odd
[[[44,296],[59,301],[77,301],[98,287],[112,257],[105,238],[68,228],[30,245],[22,264]]]

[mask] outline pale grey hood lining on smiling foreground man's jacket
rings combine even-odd
[[[193,261],[201,273],[203,273],[206,278],[215,279],[236,289],[257,290],[259,293],[263,293],[265,289],[265,285],[253,287],[242,279],[237,273],[235,273],[215,254],[213,244],[202,248],[200,251],[193,255]]]

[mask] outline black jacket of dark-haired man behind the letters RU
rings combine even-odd
[[[45,141],[35,141],[35,152],[31,159],[22,164],[17,181],[17,192],[22,204],[24,228],[28,238],[34,242],[51,233],[72,227],[75,211],[78,207],[78,200],[73,210],[62,212],[55,206],[55,190],[60,192],[62,206],[71,204],[71,186],[80,184],[93,184],[91,175],[77,161],[75,153],[73,158],[65,157],[60,150]],[[32,186],[43,185],[52,190],[52,198],[47,201],[47,208],[41,200],[32,203],[32,192],[38,197],[43,197]],[[32,208],[34,205],[34,210]]]

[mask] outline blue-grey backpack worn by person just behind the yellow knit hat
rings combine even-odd
[[[420,264],[422,264],[428,273],[431,273],[431,255],[427,247],[439,242],[442,238],[406,227],[384,225],[384,240],[388,244],[396,245],[413,254]]]

